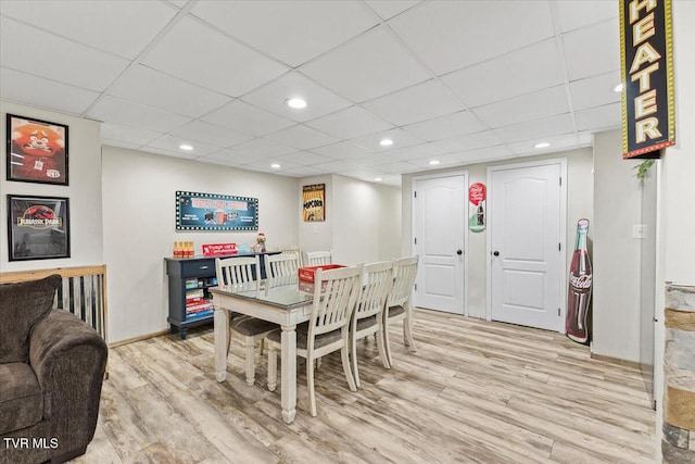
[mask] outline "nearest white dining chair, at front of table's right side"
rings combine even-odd
[[[306,359],[306,387],[311,413],[316,416],[314,361],[333,351],[341,351],[343,372],[350,390],[356,391],[350,368],[350,317],[359,293],[362,266],[316,272],[312,315],[296,327],[296,355]],[[325,288],[325,290],[323,289]],[[277,352],[282,330],[268,334],[268,390],[277,387]]]

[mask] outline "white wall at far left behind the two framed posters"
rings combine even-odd
[[[103,264],[101,221],[101,136],[96,121],[0,101],[0,272],[46,269]],[[7,113],[68,126],[68,186],[8,181]],[[9,262],[7,195],[67,197],[70,199],[71,258]]]

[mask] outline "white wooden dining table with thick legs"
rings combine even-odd
[[[215,306],[215,378],[227,379],[227,337],[230,312],[248,314],[278,324],[281,335],[282,419],[290,424],[296,415],[296,325],[309,319],[313,293],[300,290],[296,279],[291,284],[271,279],[243,285],[218,286],[211,289]]]

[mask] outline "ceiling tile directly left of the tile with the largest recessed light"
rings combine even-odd
[[[109,89],[109,95],[190,117],[202,116],[231,101],[230,97],[142,65],[130,67]]]

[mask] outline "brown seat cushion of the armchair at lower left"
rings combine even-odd
[[[26,363],[0,364],[0,435],[29,427],[43,416],[43,396]]]

